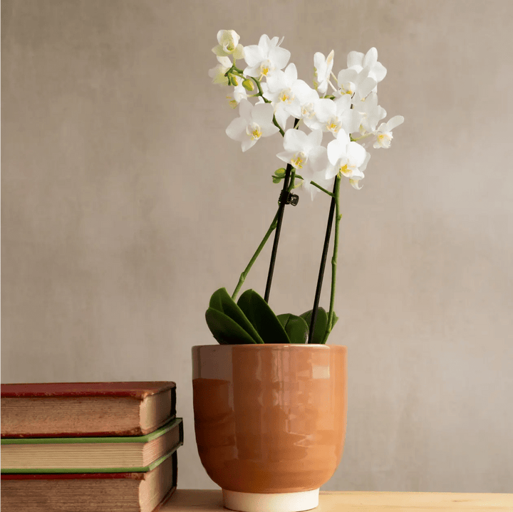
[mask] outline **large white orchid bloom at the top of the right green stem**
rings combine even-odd
[[[361,167],[366,161],[367,152],[358,142],[352,142],[344,130],[338,130],[336,139],[329,142],[327,155],[333,167],[326,170],[326,179],[339,172],[350,179],[363,178]]]

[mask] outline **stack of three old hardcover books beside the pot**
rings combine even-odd
[[[177,487],[175,382],[0,385],[0,512],[152,512]]]

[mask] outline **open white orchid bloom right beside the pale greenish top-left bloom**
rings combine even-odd
[[[268,77],[274,71],[283,69],[289,62],[290,52],[285,48],[280,48],[281,41],[277,37],[269,39],[264,34],[261,36],[258,45],[250,45],[244,48],[244,60],[247,68],[244,75],[261,78]]]

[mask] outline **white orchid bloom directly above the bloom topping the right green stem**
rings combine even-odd
[[[309,121],[311,130],[332,132],[336,137],[338,130],[353,133],[358,130],[361,114],[351,109],[351,98],[348,95],[336,100],[321,98],[315,103],[315,118]]]

